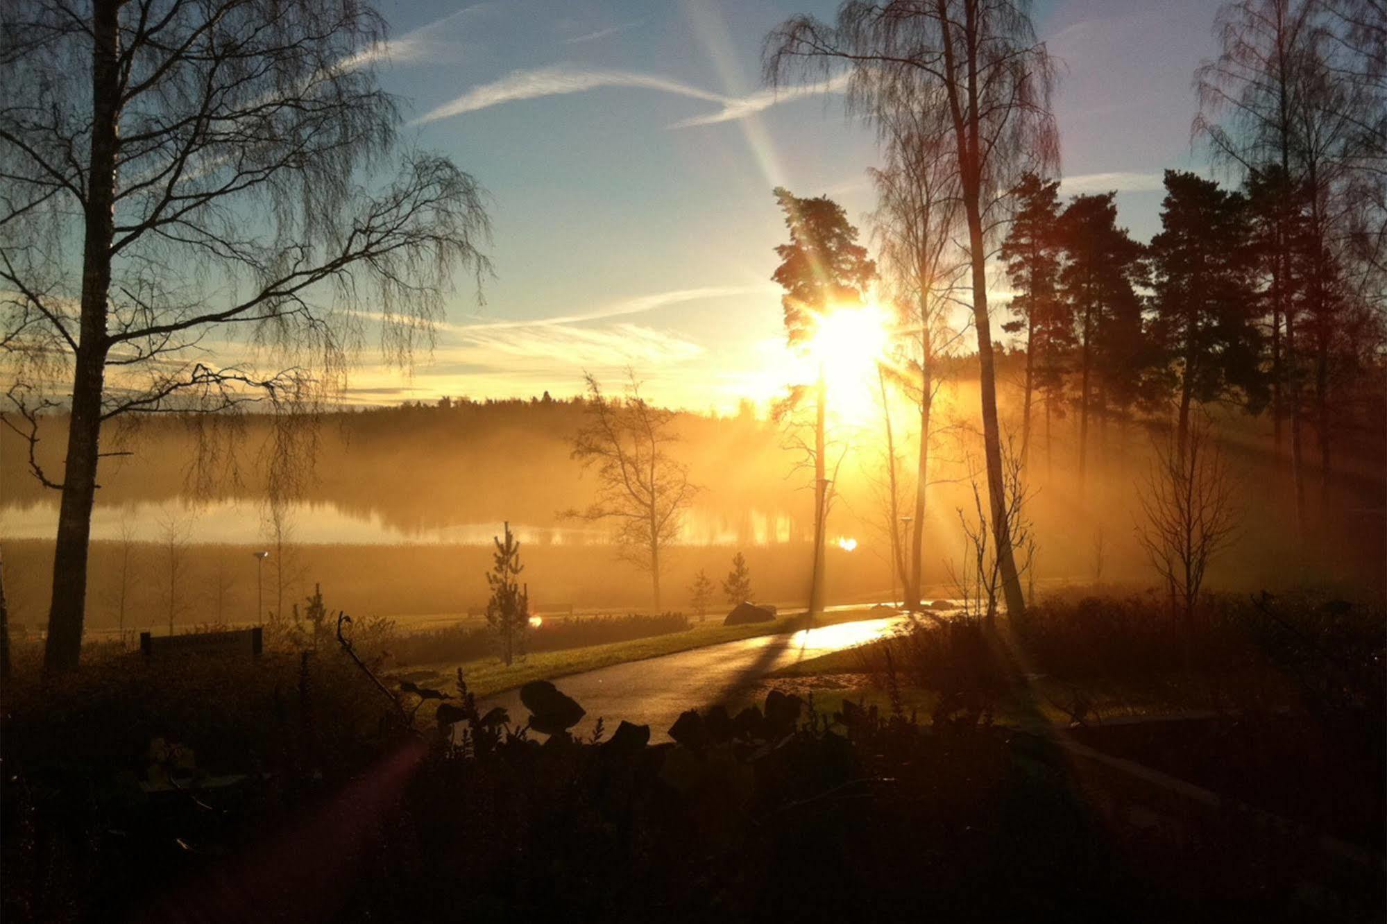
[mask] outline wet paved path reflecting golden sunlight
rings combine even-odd
[[[560,677],[553,684],[588,710],[574,728],[578,735],[591,731],[601,716],[605,719],[608,734],[624,719],[638,726],[649,724],[652,742],[669,741],[664,733],[685,709],[734,701],[773,670],[779,670],[802,658],[817,658],[871,641],[897,626],[907,624],[908,620],[908,616],[892,616],[838,623],[792,634],[743,638],[674,655],[612,665]],[[530,715],[520,705],[520,694],[515,690],[487,699],[483,712],[491,706],[505,706],[510,712],[512,721],[522,724]]]

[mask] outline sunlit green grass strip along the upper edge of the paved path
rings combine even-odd
[[[885,610],[863,606],[860,609],[846,609],[824,613],[816,626],[831,626],[835,623],[850,623],[863,619],[881,619]],[[631,641],[612,642],[608,645],[588,645],[584,648],[567,648],[565,651],[546,651],[527,655],[506,667],[499,658],[485,658],[469,662],[442,662],[437,665],[417,665],[401,670],[390,671],[401,680],[412,680],[426,687],[451,688],[458,667],[467,681],[467,688],[479,696],[513,690],[531,680],[555,680],[569,674],[581,674],[598,667],[626,663],[628,660],[645,660],[673,655],[692,648],[706,648],[742,638],[757,635],[777,635],[796,631],[803,627],[803,613],[786,613],[767,623],[750,623],[746,626],[723,626],[721,622],[709,620],[695,623],[688,631],[669,633],[664,635],[651,635],[648,638],[634,638]]]

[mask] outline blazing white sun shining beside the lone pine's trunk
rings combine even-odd
[[[890,316],[881,305],[842,305],[820,315],[809,352],[824,370],[829,413],[849,423],[872,418],[877,368],[889,344]]]

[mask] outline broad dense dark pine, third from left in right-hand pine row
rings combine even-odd
[[[1175,376],[1176,444],[1194,404],[1240,393],[1259,407],[1261,332],[1251,291],[1247,201],[1194,173],[1165,172],[1161,232],[1151,239],[1154,339]]]

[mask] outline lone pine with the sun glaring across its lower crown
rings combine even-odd
[[[867,248],[857,243],[857,229],[847,221],[843,207],[820,196],[799,198],[784,187],[775,189],[775,203],[785,212],[789,243],[775,247],[781,258],[771,275],[785,296],[785,333],[792,347],[807,344],[818,320],[835,305],[861,304],[867,284],[877,275],[877,265]],[[809,612],[822,609],[824,542],[828,519],[828,476],[825,462],[825,415],[828,386],[822,363],[814,386],[814,567]]]

